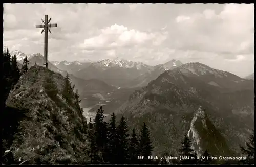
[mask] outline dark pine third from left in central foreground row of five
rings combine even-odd
[[[128,159],[128,142],[129,142],[129,134],[127,129],[126,121],[124,116],[121,117],[119,124],[117,126],[117,135],[118,135],[118,143],[117,143],[117,163],[118,164],[126,164]]]

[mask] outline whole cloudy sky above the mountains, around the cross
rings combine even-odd
[[[50,61],[116,57],[148,65],[200,62],[240,77],[254,70],[254,4],[5,3],[10,51],[44,54],[35,25],[48,14]]]

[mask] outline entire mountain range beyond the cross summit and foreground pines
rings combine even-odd
[[[42,65],[40,54],[28,59],[30,66]],[[239,156],[238,146],[254,126],[254,81],[198,62],[149,66],[117,58],[49,62],[49,69],[70,73],[82,108],[93,112],[103,105],[106,113],[124,115],[131,128],[146,122],[154,155],[177,154],[188,133],[199,154]]]

